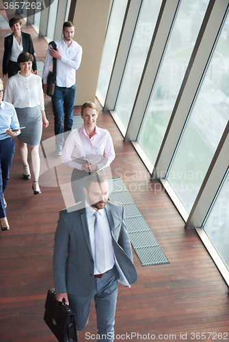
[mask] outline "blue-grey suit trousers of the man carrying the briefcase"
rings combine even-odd
[[[100,336],[98,341],[113,342],[118,278],[118,271],[116,267],[113,267],[102,278],[94,279],[92,294],[89,297],[81,297],[68,293],[70,308],[75,312],[77,330],[83,330],[87,325],[90,302],[94,298],[98,335]]]

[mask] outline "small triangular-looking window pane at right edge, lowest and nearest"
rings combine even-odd
[[[229,174],[203,228],[229,269]]]

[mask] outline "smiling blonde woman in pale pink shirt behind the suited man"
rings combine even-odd
[[[83,126],[70,133],[62,153],[62,163],[73,168],[71,182],[75,202],[86,197],[85,177],[94,171],[103,172],[116,157],[109,131],[96,126],[98,109],[93,102],[83,104],[81,118]]]

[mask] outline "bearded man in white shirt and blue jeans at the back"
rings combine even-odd
[[[57,40],[57,49],[54,50],[51,45],[46,53],[43,70],[43,88],[46,94],[47,76],[49,68],[53,62],[53,57],[57,59],[57,75],[55,91],[52,96],[54,124],[55,124],[55,155],[62,155],[62,146],[64,143],[63,132],[72,129],[73,108],[75,103],[75,70],[81,64],[82,47],[73,40],[75,27],[71,21],[66,21],[62,31],[64,37]],[[63,126],[64,119],[64,126]]]

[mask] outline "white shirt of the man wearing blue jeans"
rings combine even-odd
[[[57,59],[56,85],[58,87],[70,88],[75,84],[75,70],[77,70],[81,64],[83,53],[82,47],[77,42],[75,42],[75,40],[72,40],[72,43],[68,47],[68,45],[64,42],[64,38],[62,38],[61,40],[57,40],[55,44],[57,44],[57,49],[62,55],[61,60]],[[42,75],[44,84],[47,83],[47,76],[49,74],[49,68],[52,62],[53,57],[50,55],[48,49]]]

